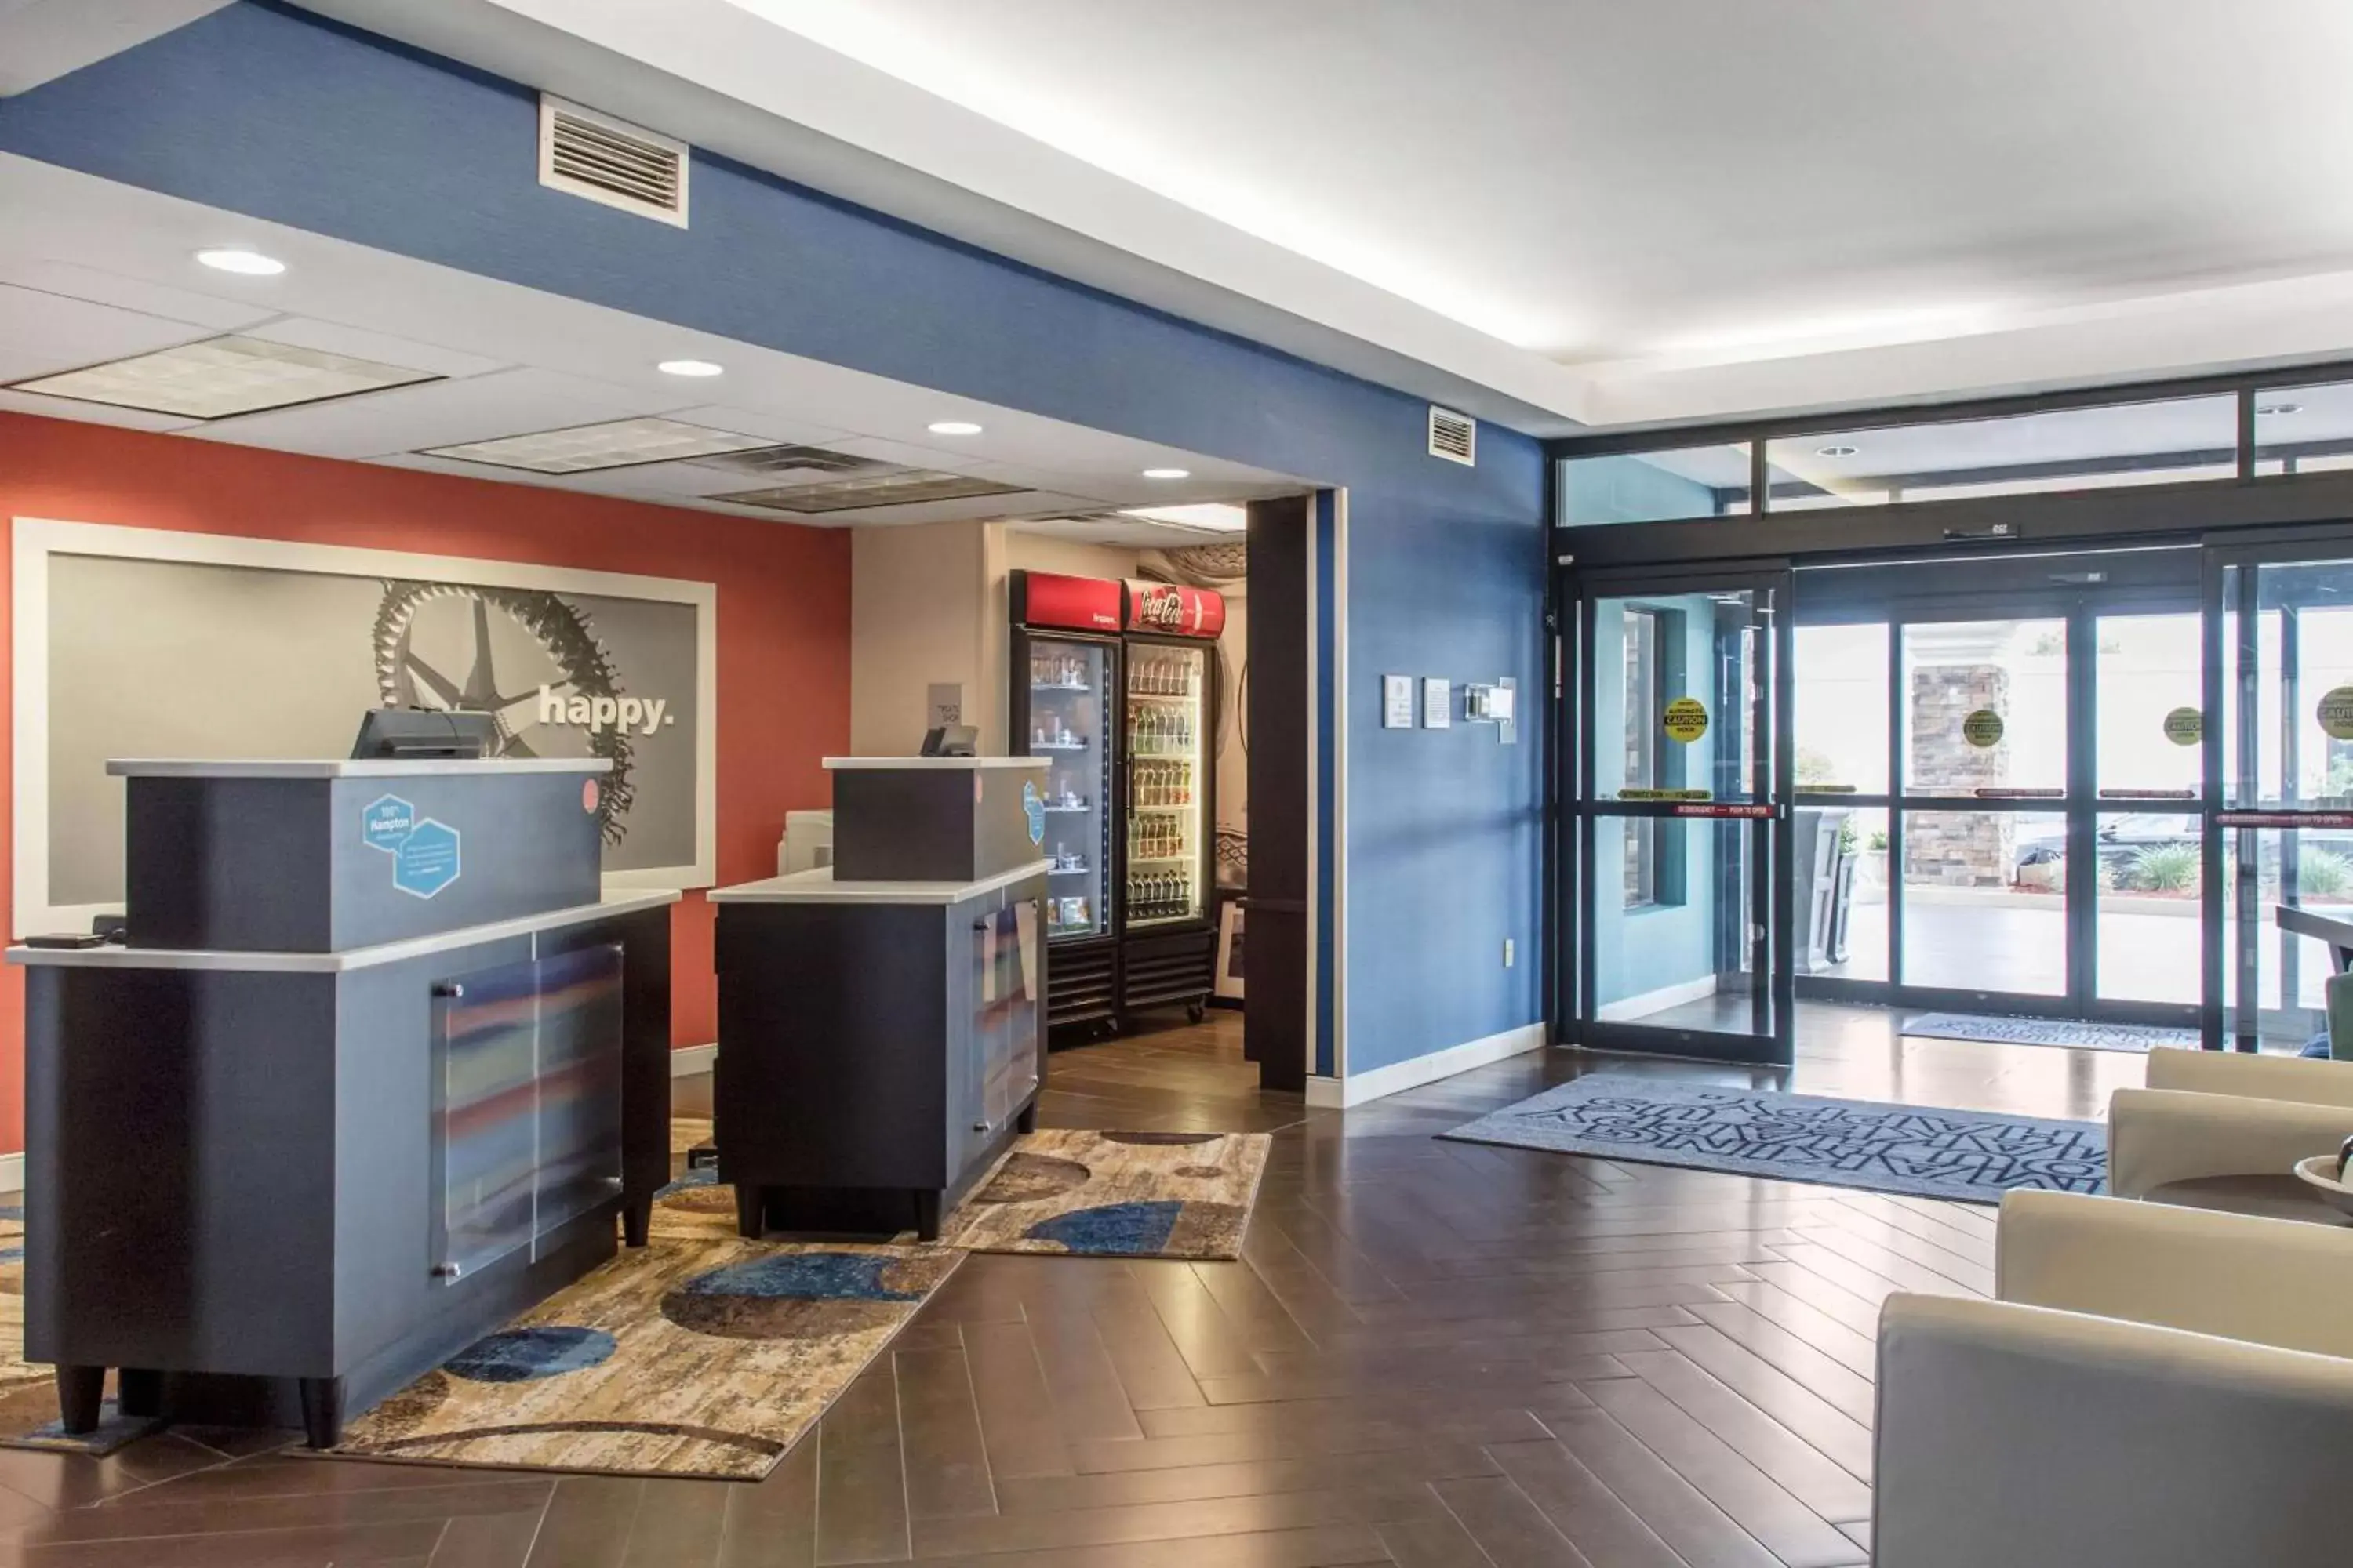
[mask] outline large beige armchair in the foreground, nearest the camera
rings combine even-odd
[[[1995,1279],[1880,1314],[1878,1568],[2346,1561],[2353,1237],[2012,1192]]]

